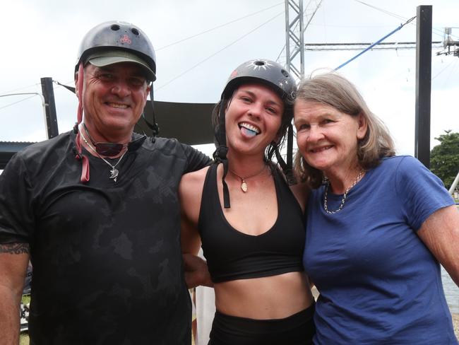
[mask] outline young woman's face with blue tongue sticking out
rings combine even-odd
[[[263,155],[278,140],[284,103],[275,91],[259,83],[239,86],[225,112],[227,145],[233,153]]]

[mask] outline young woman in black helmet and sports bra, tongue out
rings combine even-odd
[[[215,288],[212,345],[311,344],[314,299],[302,267],[307,189],[293,194],[270,161],[292,121],[294,90],[275,62],[235,69],[214,111],[216,163],[179,186],[182,250],[196,254],[202,241]]]

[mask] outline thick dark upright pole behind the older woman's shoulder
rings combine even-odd
[[[432,6],[417,6],[415,157],[430,168]]]

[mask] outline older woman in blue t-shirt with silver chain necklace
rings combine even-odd
[[[441,180],[394,156],[386,127],[337,74],[301,83],[294,125],[295,168],[313,189],[314,344],[458,344],[439,263],[459,284],[459,215]]]

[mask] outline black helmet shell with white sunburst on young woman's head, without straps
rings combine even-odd
[[[290,103],[294,100],[297,90],[294,78],[283,66],[266,59],[244,62],[234,69],[223,90],[222,99],[230,98],[239,85],[250,81],[267,84],[280,95],[284,102]]]

